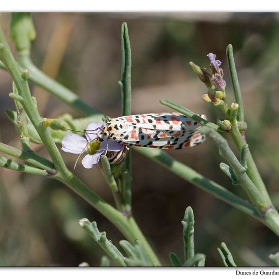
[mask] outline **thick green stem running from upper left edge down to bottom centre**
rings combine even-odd
[[[90,188],[77,179],[65,166],[65,163],[59,153],[49,129],[44,127],[41,122],[41,116],[31,98],[28,84],[21,76],[22,73],[10,51],[7,41],[4,37],[3,31],[0,29],[0,59],[2,59],[8,72],[13,78],[17,87],[18,93],[23,98],[22,107],[24,108],[27,116],[32,122],[33,126],[37,129],[43,144],[45,145],[49,155],[53,161],[57,174],[55,179],[63,182],[76,193],[81,195],[91,205],[93,205],[101,214],[107,217],[130,241],[139,239],[144,243],[144,249],[148,253],[150,260],[154,261],[157,265],[160,265],[159,260],[150,248],[148,242],[143,236],[140,229],[133,224],[133,219],[126,219],[120,212],[112,207],[107,202],[103,201],[98,195],[96,195]]]

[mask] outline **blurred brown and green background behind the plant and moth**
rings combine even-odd
[[[2,13],[8,36],[10,14]],[[169,112],[159,100],[178,102],[215,122],[221,111],[204,103],[205,86],[192,73],[189,61],[208,67],[206,54],[223,62],[227,97],[233,101],[225,50],[234,48],[235,63],[248,123],[247,138],[263,180],[279,208],[279,14],[276,13],[32,13],[37,39],[32,60],[92,107],[121,114],[121,23],[126,21],[132,50],[132,112]],[[14,45],[9,41],[14,51]],[[19,136],[5,115],[14,110],[8,93],[9,75],[0,70],[0,141],[20,148]],[[64,113],[80,117],[48,92],[30,84],[42,116]],[[229,140],[229,138],[228,138]],[[230,141],[231,143],[231,141]],[[234,146],[231,145],[233,150]],[[34,146],[46,154],[42,146]],[[207,141],[193,149],[169,151],[230,191],[219,168],[217,149]],[[62,154],[69,169],[77,157]],[[45,155],[46,156],[46,155]],[[103,199],[113,204],[99,169],[77,165],[74,172]],[[138,225],[163,265],[168,253],[183,256],[182,225],[187,206],[195,216],[195,251],[206,255],[206,266],[223,266],[217,252],[226,242],[238,266],[268,266],[279,250],[278,238],[258,221],[173,175],[137,152],[132,154],[132,205]],[[0,265],[99,266],[103,250],[79,226],[96,221],[100,231],[118,246],[120,232],[70,189],[54,180],[0,169]],[[119,246],[118,246],[119,247]]]

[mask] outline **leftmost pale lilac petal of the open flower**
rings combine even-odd
[[[67,134],[62,140],[62,150],[68,153],[80,154],[84,152],[87,141],[78,134]]]

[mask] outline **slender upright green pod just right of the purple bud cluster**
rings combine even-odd
[[[237,120],[244,121],[243,101],[242,101],[240,85],[239,85],[234,58],[233,58],[232,45],[227,46],[226,53],[227,53],[227,60],[229,64],[229,71],[230,71],[230,76],[231,76],[231,81],[233,86],[233,92],[235,96],[235,102],[238,103],[239,105],[238,112],[237,112]]]

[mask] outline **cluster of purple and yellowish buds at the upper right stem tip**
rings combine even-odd
[[[223,80],[223,69],[219,67],[221,61],[216,60],[216,55],[213,53],[207,54],[207,57],[210,60],[210,71],[206,68],[200,68],[193,62],[190,62],[190,66],[208,89],[202,99],[206,102],[213,102],[215,106],[224,106],[226,82]]]

